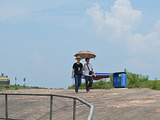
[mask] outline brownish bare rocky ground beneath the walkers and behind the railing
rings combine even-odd
[[[2,92],[53,93],[77,96],[94,105],[94,120],[159,120],[160,91],[144,89],[79,90],[21,89]],[[9,117],[49,120],[49,97],[9,96]],[[73,100],[53,98],[53,120],[72,120]],[[4,96],[0,95],[0,117],[5,117]],[[89,108],[77,101],[77,120],[86,120]]]

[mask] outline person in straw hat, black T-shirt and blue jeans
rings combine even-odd
[[[80,63],[81,61],[81,57],[77,56],[75,58],[75,60],[77,60],[76,63],[73,64],[73,69],[72,69],[72,75],[71,78],[73,78],[73,74],[74,74],[74,78],[75,78],[75,92],[78,93],[78,88],[80,87],[82,81],[82,75],[83,75],[83,64]]]

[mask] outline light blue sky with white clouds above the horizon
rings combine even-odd
[[[96,72],[160,79],[159,0],[0,0],[0,72],[11,84],[68,88],[74,54]],[[83,64],[84,60],[81,61]]]

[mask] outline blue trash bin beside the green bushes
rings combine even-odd
[[[127,86],[127,73],[126,72],[113,73],[113,87],[125,88],[126,86]]]

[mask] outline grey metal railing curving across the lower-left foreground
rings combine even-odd
[[[5,118],[0,117],[0,119],[27,120],[27,119],[18,119],[18,118],[8,117],[8,95],[30,95],[30,96],[50,96],[50,120],[52,120],[53,96],[73,99],[73,120],[76,120],[76,100],[80,101],[81,103],[85,104],[86,106],[90,108],[87,120],[93,120],[93,110],[94,110],[93,105],[80,99],[79,97],[60,95],[60,94],[39,94],[39,93],[0,93],[0,95],[5,95]]]

